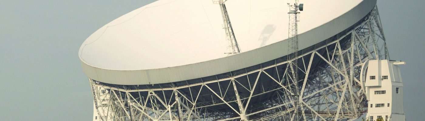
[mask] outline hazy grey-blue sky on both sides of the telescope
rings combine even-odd
[[[91,121],[78,50],[94,31],[155,0],[0,0],[0,120]],[[302,2],[302,0],[300,0]],[[408,121],[425,119],[425,0],[378,0],[392,60],[402,60]]]

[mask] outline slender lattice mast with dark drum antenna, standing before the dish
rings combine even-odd
[[[300,116],[298,114],[298,108],[300,105],[300,95],[298,88],[298,14],[303,11],[303,4],[298,5],[298,0],[295,0],[293,5],[289,6],[289,27],[288,27],[288,55],[286,56],[289,62],[287,63],[286,80],[289,82],[291,95],[294,101],[294,114],[292,117],[293,121],[299,121]]]

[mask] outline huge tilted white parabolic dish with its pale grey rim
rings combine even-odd
[[[228,0],[241,53],[227,47],[220,7],[211,0],[158,0],[113,20],[79,49],[85,74],[119,85],[177,82],[254,66],[287,55],[287,3]],[[360,21],[376,0],[300,0],[299,50]]]

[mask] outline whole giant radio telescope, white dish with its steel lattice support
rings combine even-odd
[[[384,85],[374,63],[399,74],[376,0],[300,1],[295,52],[287,1],[220,1],[158,0],[89,36],[94,121],[351,121]]]

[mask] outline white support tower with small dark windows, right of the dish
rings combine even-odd
[[[365,81],[368,121],[405,121],[403,83],[399,65],[405,62],[369,60]]]

